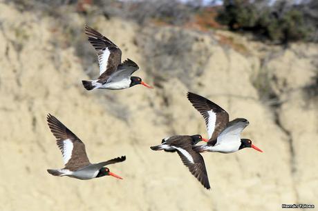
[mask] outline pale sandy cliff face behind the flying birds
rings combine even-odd
[[[187,32],[198,39],[183,59],[191,61],[191,53],[203,46],[206,52],[189,69],[200,71],[184,81],[178,67],[149,66],[152,61],[142,52],[147,46],[136,37],[151,34],[151,27],[97,17],[93,27],[118,43],[124,58],[139,64],[135,75],[150,84],[156,82],[155,71],[166,77],[154,90],[135,86],[87,92],[80,81],[91,77],[86,72],[96,77],[97,65],[89,70],[77,48],[61,44],[72,37],[54,17],[3,3],[0,10],[0,210],[281,210],[282,203],[318,205],[318,101],[305,92],[317,74],[317,45],[297,43],[283,50],[220,32],[242,43],[244,53],[224,46],[217,32]],[[69,16],[70,24],[84,26],[79,14]],[[156,30],[153,39],[171,33],[169,27]],[[85,42],[83,33],[77,36]],[[171,134],[207,135],[187,91],[212,99],[230,119],[247,118],[250,125],[243,137],[264,151],[203,154],[209,191],[177,154],[149,149]],[[264,92],[272,98],[266,101]],[[62,167],[46,125],[48,112],[86,143],[92,162],[126,155],[127,161],[109,166],[124,180],[79,181],[48,174],[47,168]]]

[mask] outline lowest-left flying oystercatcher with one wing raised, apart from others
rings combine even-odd
[[[125,156],[101,163],[91,163],[88,160],[84,143],[71,130],[68,130],[62,122],[50,114],[48,114],[47,121],[50,131],[57,139],[57,146],[62,152],[65,165],[61,169],[48,169],[48,173],[59,177],[68,176],[84,180],[104,176],[122,179],[122,177],[110,172],[109,168],[104,168],[104,166],[122,162],[126,160]]]

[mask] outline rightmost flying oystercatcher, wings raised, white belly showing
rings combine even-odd
[[[241,139],[241,132],[249,124],[247,119],[238,118],[229,122],[229,114],[223,108],[198,94],[188,92],[187,98],[205,119],[209,141],[194,147],[196,152],[232,153],[243,148],[257,148],[250,139]]]

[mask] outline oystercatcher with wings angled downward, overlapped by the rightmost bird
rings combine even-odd
[[[162,139],[160,145],[155,145],[150,148],[151,150],[178,152],[183,164],[189,168],[191,174],[193,174],[205,188],[209,189],[209,179],[207,177],[207,170],[205,169],[203,157],[200,153],[192,149],[199,141],[207,141],[207,139],[203,139],[199,134],[193,136],[177,135]]]

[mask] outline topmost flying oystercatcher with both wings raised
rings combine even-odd
[[[131,76],[139,69],[138,65],[130,59],[121,62],[122,51],[112,41],[88,26],[85,26],[85,33],[88,35],[88,41],[97,51],[100,63],[100,77],[93,81],[82,81],[86,90],[122,90],[137,84],[152,88],[140,77]]]

